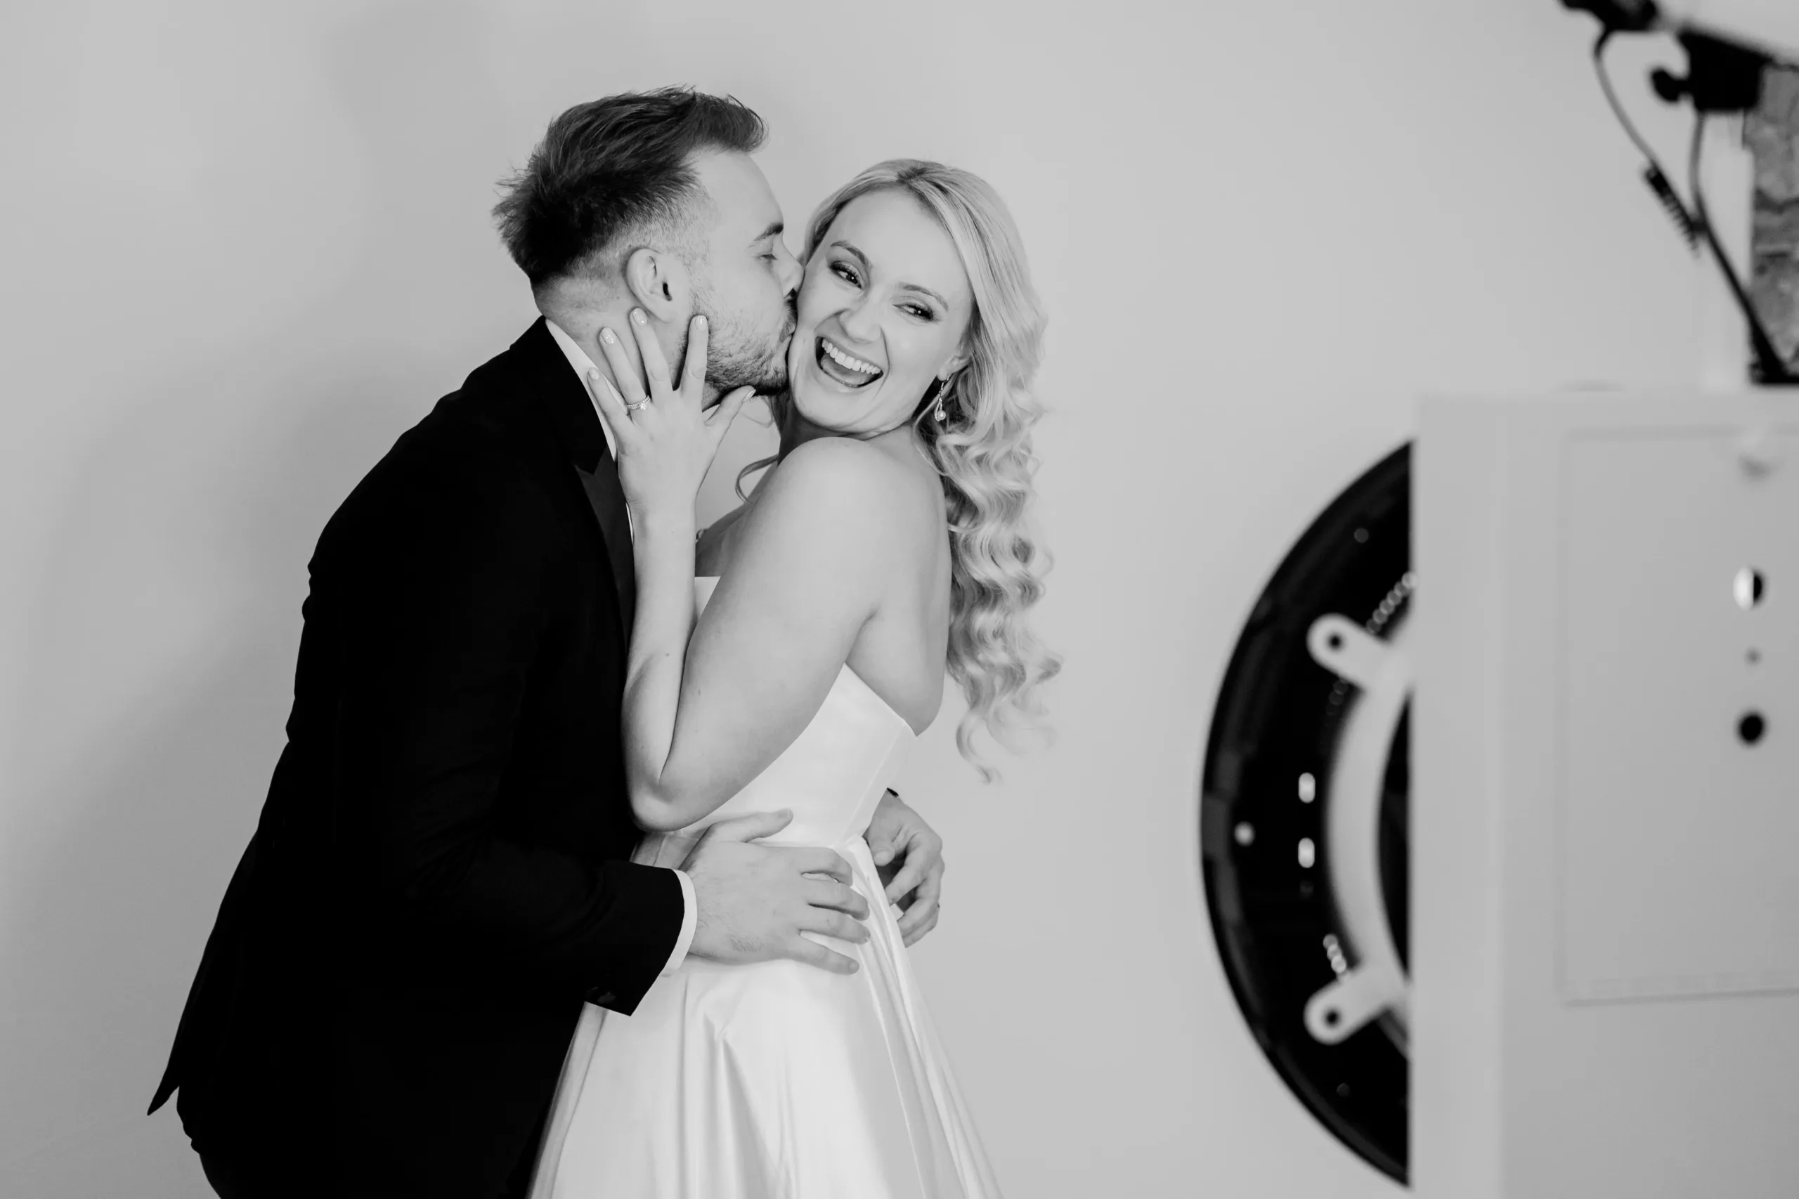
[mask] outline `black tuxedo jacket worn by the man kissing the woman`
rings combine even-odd
[[[536,322],[318,537],[288,746],[169,1068],[194,1147],[320,1195],[518,1185],[583,999],[682,924],[628,861],[630,527]]]

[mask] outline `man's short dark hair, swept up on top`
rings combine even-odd
[[[693,88],[576,104],[502,183],[500,237],[533,288],[601,266],[599,255],[633,230],[660,225],[678,239],[705,203],[693,155],[750,155],[765,137],[743,102]]]

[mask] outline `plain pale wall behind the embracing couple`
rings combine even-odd
[[[1204,732],[1266,573],[1421,390],[1691,377],[1691,268],[1583,20],[106,0],[4,22],[0,1190],[205,1194],[173,1109],[142,1113],[282,742],[313,541],[531,320],[493,182],[567,104],[685,81],[768,119],[795,226],[878,158],[986,174],[1052,313],[1060,742],[982,789],[948,708],[907,787],[952,863],[916,960],[1007,1194],[1396,1194],[1238,1017],[1200,897]],[[739,431],[734,460],[765,437]]]

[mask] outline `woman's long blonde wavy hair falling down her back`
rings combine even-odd
[[[943,392],[946,419],[932,419],[934,388],[912,424],[948,500],[948,672],[968,699],[955,744],[991,782],[998,773],[975,750],[975,732],[984,726],[998,744],[1015,748],[1018,732],[1042,728],[1038,687],[1061,669],[1061,658],[1024,620],[1042,599],[1051,566],[1027,525],[1036,475],[1031,428],[1043,417],[1031,392],[1043,358],[1043,306],[1006,203],[986,180],[937,162],[892,158],[844,183],[811,214],[802,261],[811,262],[849,201],[880,191],[910,196],[943,225],[973,289],[964,334],[968,365]],[[784,395],[775,401],[783,422],[784,403]]]

